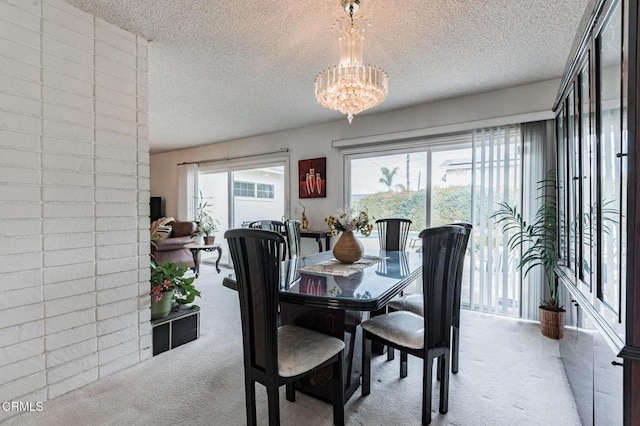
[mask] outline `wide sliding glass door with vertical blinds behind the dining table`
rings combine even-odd
[[[462,305],[520,315],[517,260],[491,214],[500,201],[521,198],[519,126],[425,140],[398,150],[345,155],[347,202],[375,218],[412,220],[408,250],[419,250],[421,230],[454,222],[473,224],[465,254]],[[377,234],[360,237],[377,249]]]

